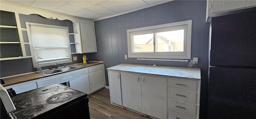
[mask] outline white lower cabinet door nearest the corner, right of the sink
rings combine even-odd
[[[89,74],[91,92],[94,92],[105,86],[104,84],[104,73],[103,70]]]

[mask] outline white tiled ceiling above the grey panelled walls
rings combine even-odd
[[[133,12],[170,0],[2,0],[90,20]]]

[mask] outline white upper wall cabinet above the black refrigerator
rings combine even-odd
[[[256,0],[207,0],[206,22],[218,13],[256,7]]]

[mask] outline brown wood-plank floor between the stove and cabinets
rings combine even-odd
[[[110,103],[109,90],[102,90],[89,96],[91,119],[150,119],[138,113],[121,109]]]

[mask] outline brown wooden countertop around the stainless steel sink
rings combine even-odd
[[[70,66],[80,66],[81,68],[86,68],[86,67],[89,67],[89,66],[102,64],[102,63],[104,63],[104,62],[91,61],[90,64],[86,64],[86,66],[82,66],[83,65],[82,63],[74,64],[74,65],[70,65]],[[81,68],[76,68],[74,70],[78,70],[78,69],[81,69]],[[68,70],[68,71],[65,71],[65,72],[69,72],[69,71],[73,71],[73,70]],[[60,72],[58,74],[65,73],[65,72]],[[52,74],[52,75],[48,75],[48,76],[53,76],[53,75],[58,75],[58,74]],[[31,80],[36,80],[36,79],[43,78],[43,77],[48,77],[48,76],[44,76],[42,74],[38,74],[38,73],[34,72],[34,73],[30,73],[30,74],[24,74],[24,75],[18,75],[18,76],[13,76],[13,77],[8,77],[8,78],[2,78],[2,80],[4,80],[4,82],[5,82],[5,84],[3,84],[3,86],[10,86],[10,85],[19,84],[19,83],[22,83],[22,82],[28,82],[28,81],[31,81]]]

